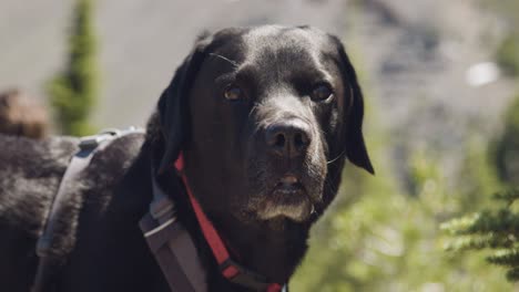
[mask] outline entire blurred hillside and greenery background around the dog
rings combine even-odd
[[[0,0],[0,91],[54,134],[143,126],[197,34],[265,23],[340,36],[377,171],[345,169],[292,289],[519,291],[516,197],[492,199],[519,179],[519,0]]]

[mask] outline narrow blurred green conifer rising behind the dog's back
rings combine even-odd
[[[69,36],[67,67],[48,84],[58,125],[67,135],[92,133],[89,116],[98,94],[92,2],[78,0]]]

